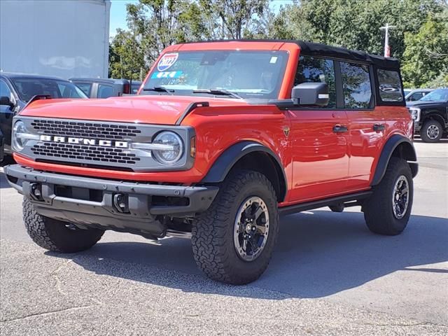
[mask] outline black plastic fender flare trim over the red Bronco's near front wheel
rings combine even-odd
[[[253,152],[263,152],[267,153],[271,158],[274,159],[274,164],[277,165],[281,174],[283,174],[283,183],[285,183],[285,190],[288,190],[288,180],[286,179],[285,170],[283,169],[283,165],[279,157],[271,151],[271,149],[266,146],[255,142],[255,141],[241,141],[237,144],[234,144],[227,148],[221,155],[215,160],[214,164],[207,172],[207,175],[202,179],[201,183],[220,183],[224,181],[225,176],[228,175],[230,169],[235,166],[235,164],[243,158],[248,153]],[[280,183],[282,183],[281,179],[279,179]],[[281,199],[284,200],[285,195],[281,195]]]

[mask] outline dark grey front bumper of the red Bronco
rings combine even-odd
[[[41,172],[20,165],[5,167],[10,186],[33,202],[36,211],[80,228],[103,228],[162,237],[162,216],[188,217],[206,211],[216,186],[163,186]],[[38,193],[36,193],[38,190]],[[37,194],[37,196],[36,196]],[[124,196],[126,211],[117,207]]]

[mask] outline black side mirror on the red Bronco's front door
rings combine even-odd
[[[327,106],[330,96],[327,83],[301,83],[291,91],[296,105]]]

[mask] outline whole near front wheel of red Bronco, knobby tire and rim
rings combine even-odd
[[[193,254],[209,278],[250,283],[265,272],[278,232],[276,194],[266,176],[232,172],[193,224]]]

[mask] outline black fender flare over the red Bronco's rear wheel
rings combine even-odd
[[[403,137],[399,134],[394,134],[392,137],[388,139],[386,144],[384,145],[381,154],[379,155],[379,160],[377,163],[377,168],[375,169],[375,173],[372,179],[372,183],[370,183],[370,186],[376,186],[381,182],[381,180],[384,177],[384,174],[386,174],[387,165],[389,163],[389,160],[391,160],[393,151],[400,146],[401,144],[407,144],[407,153],[405,155],[405,160],[407,161],[414,161],[409,162],[409,166],[412,170],[412,177],[415,177],[419,166],[415,162],[417,160],[417,155],[415,152],[414,145],[412,144],[412,141],[407,139],[407,137]]]

